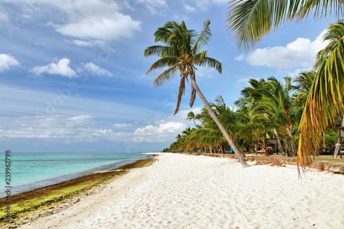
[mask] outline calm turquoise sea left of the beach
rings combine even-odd
[[[0,154],[0,177],[5,186],[5,153]],[[10,153],[11,195],[42,188],[69,179],[118,168],[149,157],[142,153]]]

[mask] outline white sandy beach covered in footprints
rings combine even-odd
[[[172,153],[20,228],[344,228],[344,176]]]

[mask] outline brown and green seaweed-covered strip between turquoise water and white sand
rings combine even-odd
[[[13,223],[3,223],[6,221],[5,212],[6,197],[0,199],[0,227],[8,228],[9,226],[19,226],[21,223],[27,222],[25,219],[33,219],[47,214],[37,215],[37,212],[44,211],[46,208],[51,208],[61,202],[71,201],[72,198],[85,195],[85,193],[92,188],[96,188],[101,184],[105,184],[111,180],[118,179],[118,177],[125,175],[133,168],[141,168],[149,166],[154,161],[154,155],[147,157],[144,160],[136,160],[129,162],[118,168],[113,168],[109,171],[99,171],[89,175],[69,179],[65,182],[59,182],[49,186],[36,188],[34,190],[25,191],[11,196],[11,210]],[[49,213],[48,213],[49,214]],[[20,219],[20,223],[16,223]]]

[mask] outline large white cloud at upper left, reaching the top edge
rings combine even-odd
[[[48,21],[56,32],[78,39],[118,40],[131,37],[140,30],[140,21],[133,20],[129,15],[122,14],[122,8],[129,8],[126,1],[107,0],[17,0],[9,1],[17,4],[17,8],[34,9],[37,17],[43,13],[61,12],[58,21]],[[0,9],[1,10],[1,9]],[[22,12],[20,12],[22,13]],[[0,19],[6,19],[6,14]],[[29,15],[32,17],[32,15]],[[50,15],[49,15],[50,16]],[[80,45],[80,42],[76,42]],[[83,43],[85,45],[85,43]]]

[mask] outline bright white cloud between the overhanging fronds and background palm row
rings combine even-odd
[[[308,67],[315,61],[316,53],[322,50],[324,30],[314,41],[299,38],[284,46],[257,49],[248,55],[241,54],[236,61],[245,60],[253,66],[274,67],[276,69],[290,69],[293,67]]]

